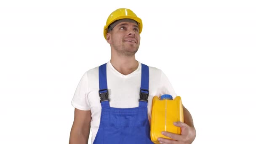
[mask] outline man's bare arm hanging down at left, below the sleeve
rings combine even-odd
[[[71,128],[69,144],[88,144],[91,128],[91,110],[75,108],[74,122]]]

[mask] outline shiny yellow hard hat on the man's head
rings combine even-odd
[[[133,19],[134,21],[137,21],[138,27],[139,27],[139,34],[141,33],[141,31],[142,31],[141,19],[138,16],[136,16],[136,14],[133,13],[133,11],[131,11],[130,9],[119,8],[119,9],[113,11],[107,18],[107,22],[106,22],[106,25],[104,26],[104,32],[103,32],[106,40],[107,40],[107,31],[108,31],[109,25],[112,24],[112,22],[120,20],[120,19]]]

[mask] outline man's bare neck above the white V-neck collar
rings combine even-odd
[[[129,75],[139,67],[139,62],[136,61],[135,57],[116,59],[111,57],[110,63],[112,66],[121,74]]]

